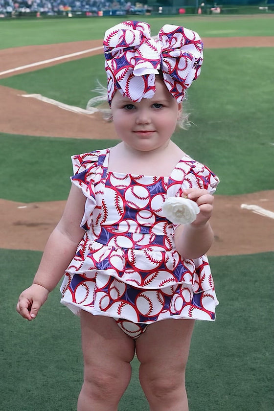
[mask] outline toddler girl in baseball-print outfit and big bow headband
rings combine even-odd
[[[121,142],[72,157],[67,205],[17,311],[35,318],[66,272],[61,302],[82,329],[77,410],[117,410],[136,353],[150,410],[186,411],[194,320],[214,320],[218,303],[205,255],[218,178],[171,137],[203,44],[183,27],[165,25],[155,40],[147,23],[124,22],[107,30],[104,48]],[[194,221],[167,219],[174,197],[196,203]]]

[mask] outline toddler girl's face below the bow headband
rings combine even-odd
[[[114,127],[118,137],[138,151],[150,151],[167,145],[182,110],[182,104],[156,78],[156,91],[151,99],[135,103],[116,91],[112,100]]]

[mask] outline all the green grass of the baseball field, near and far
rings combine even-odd
[[[274,32],[273,19],[257,16],[146,20],[153,34],[164,23],[182,22],[206,37]],[[99,39],[119,21],[0,21],[0,48]],[[0,85],[85,107],[95,78],[104,81],[102,62],[102,56],[80,59],[1,79]],[[187,102],[196,125],[177,132],[174,140],[219,175],[218,194],[273,189],[273,62],[273,48],[205,51],[202,75]],[[114,144],[3,133],[0,142],[0,196],[19,202],[64,200],[70,156]],[[76,410],[82,384],[78,318],[59,303],[58,289],[37,320],[29,323],[15,311],[40,258],[41,252],[0,250],[0,411]],[[190,411],[273,410],[273,261],[273,252],[210,258],[220,305],[215,323],[195,326],[186,375]],[[148,411],[137,359],[132,365],[132,381],[119,411]]]

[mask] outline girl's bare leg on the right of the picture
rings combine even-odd
[[[185,366],[194,320],[162,320],[136,340],[140,383],[151,411],[188,411]]]

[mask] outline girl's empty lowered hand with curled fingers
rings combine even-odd
[[[20,294],[16,306],[17,312],[25,319],[31,321],[36,316],[40,307],[47,299],[49,291],[39,284],[32,284]]]

